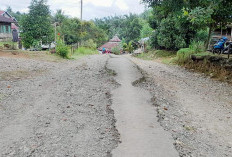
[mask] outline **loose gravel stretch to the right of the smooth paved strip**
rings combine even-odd
[[[232,86],[183,68],[129,57],[146,76],[161,125],[180,156],[232,156]]]

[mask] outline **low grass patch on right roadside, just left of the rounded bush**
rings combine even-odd
[[[175,51],[152,50],[147,53],[138,54],[136,57],[144,60],[156,60],[164,64],[172,64],[172,60],[175,56]]]

